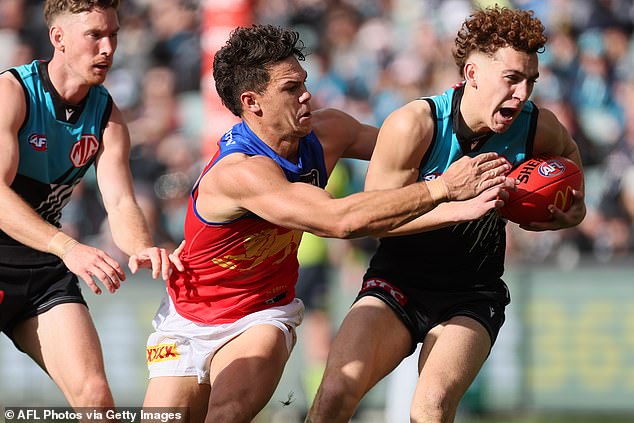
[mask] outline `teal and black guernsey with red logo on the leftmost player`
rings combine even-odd
[[[62,208],[95,162],[112,98],[101,85],[80,104],[64,103],[53,87],[47,62],[9,69],[24,89],[26,116],[18,132],[20,160],[11,188],[47,222],[59,227]],[[0,231],[0,262],[43,264],[57,260]]]

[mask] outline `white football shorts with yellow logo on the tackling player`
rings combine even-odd
[[[210,383],[211,358],[224,344],[252,326],[268,324],[279,328],[288,352],[295,345],[295,328],[302,322],[304,304],[295,298],[289,304],[271,307],[233,323],[207,325],[192,322],[176,312],[169,295],[161,301],[152,321],[155,332],[147,341],[150,379],[160,376],[197,376],[198,383]]]

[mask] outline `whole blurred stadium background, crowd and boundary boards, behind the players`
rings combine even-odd
[[[466,0],[123,0],[120,41],[106,85],[130,124],[131,166],[157,243],[182,238],[188,190],[233,122],[210,77],[213,52],[236,25],[301,32],[314,107],[380,125],[396,107],[458,80],[451,59]],[[493,3],[493,2],[491,2]],[[509,225],[512,303],[498,343],[458,421],[620,422],[634,418],[634,5],[631,0],[497,1],[530,8],[549,44],[532,99],[578,141],[588,217],[578,228],[526,233]],[[50,55],[41,1],[0,1],[0,69]],[[337,195],[362,189],[365,163],[337,169]],[[112,245],[94,177],[76,190],[64,229],[125,263]],[[303,264],[327,269],[336,329],[374,241],[306,238]],[[304,248],[304,246],[302,247]],[[421,252],[424,254],[424,252]],[[87,293],[119,406],[139,406],[144,345],[163,284],[129,278],[116,296]],[[258,422],[301,421],[307,335]],[[312,339],[312,338],[311,338]],[[72,360],[72,357],[69,357]],[[415,370],[404,363],[363,401],[356,421],[402,422]],[[292,396],[290,405],[282,402]],[[64,405],[48,378],[0,337],[0,407]]]

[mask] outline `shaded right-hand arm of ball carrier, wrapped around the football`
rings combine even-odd
[[[577,144],[570,136],[568,130],[548,109],[540,109],[539,111],[534,154],[564,156],[574,161],[577,166],[579,166],[579,169],[583,169]],[[570,228],[578,225],[586,215],[583,185],[580,190],[573,190],[573,195],[574,202],[568,211],[563,212],[554,205],[551,205],[550,211],[553,215],[551,221],[521,225],[520,227],[531,231],[546,231]]]

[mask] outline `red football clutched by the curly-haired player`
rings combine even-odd
[[[549,155],[528,159],[508,176],[518,180],[517,191],[509,191],[500,214],[519,224],[550,220],[550,204],[568,210],[573,202],[572,190],[580,189],[583,183],[583,173],[575,162]]]

